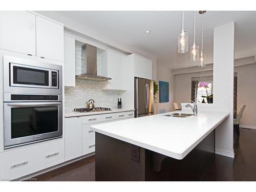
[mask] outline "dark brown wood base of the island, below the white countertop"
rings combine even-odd
[[[177,160],[96,133],[96,181],[200,181],[215,155],[215,130]]]

